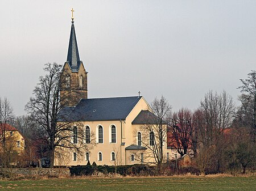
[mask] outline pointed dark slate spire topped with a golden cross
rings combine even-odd
[[[80,58],[79,58],[79,50],[77,46],[77,41],[76,41],[76,32],[75,32],[75,25],[74,25],[74,17],[73,17],[73,12],[74,10],[72,9],[72,24],[71,24],[71,33],[69,37],[69,45],[68,45],[68,57],[67,57],[67,62],[69,63],[69,66],[71,66],[71,69],[74,71],[79,69],[80,65]]]

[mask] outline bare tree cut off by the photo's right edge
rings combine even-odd
[[[251,101],[251,105],[253,105],[253,116],[251,117],[251,121],[253,121],[253,126],[251,128],[251,139],[256,145],[256,71],[251,70],[247,76],[247,79],[240,79],[242,86],[238,88],[241,89],[243,94],[248,96],[248,99]]]

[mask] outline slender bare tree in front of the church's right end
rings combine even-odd
[[[141,127],[142,143],[146,146],[147,152],[145,157],[149,158],[148,162],[158,165],[159,173],[162,170],[164,162],[164,147],[167,139],[167,121],[171,114],[171,105],[166,98],[157,97],[152,101],[151,108],[144,117],[144,125]],[[138,157],[139,158],[139,157]]]

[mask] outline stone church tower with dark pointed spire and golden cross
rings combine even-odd
[[[64,63],[61,73],[61,105],[73,107],[80,99],[88,98],[87,71],[80,61],[76,41],[75,25],[72,11],[71,33],[68,45],[67,62]]]

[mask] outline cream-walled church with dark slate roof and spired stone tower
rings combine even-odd
[[[88,161],[97,165],[127,165],[154,160],[149,152],[154,145],[154,133],[144,131],[143,125],[146,116],[155,116],[143,96],[88,98],[88,72],[80,60],[73,15],[68,56],[61,75],[64,80],[60,96],[68,96],[65,107],[59,112],[65,120],[59,123],[69,121],[74,124],[71,142],[79,144],[79,130],[75,125],[79,122],[85,137],[82,144],[87,144],[88,149],[82,152],[69,150],[65,162],[61,162],[60,152],[55,152],[55,165],[86,165]],[[164,142],[166,159],[166,140]]]

